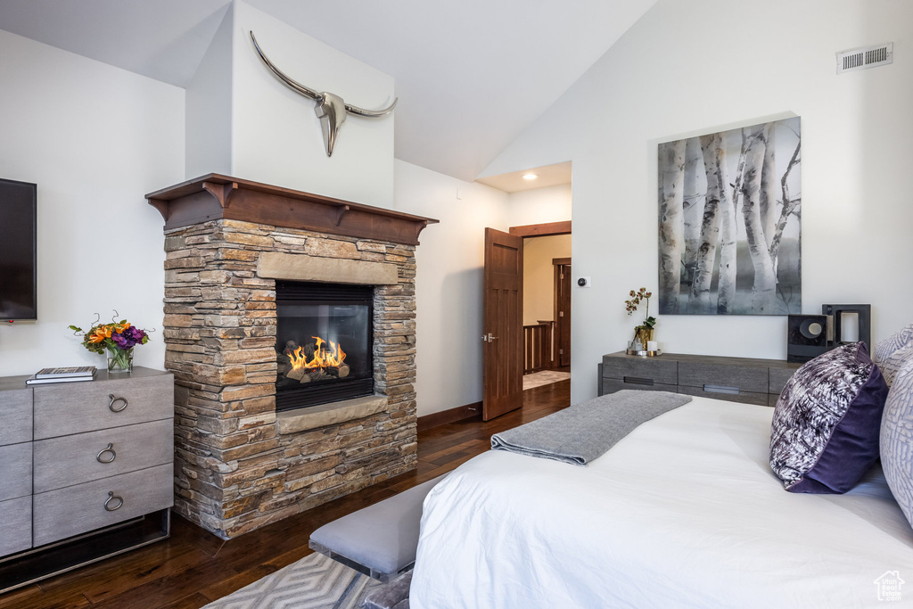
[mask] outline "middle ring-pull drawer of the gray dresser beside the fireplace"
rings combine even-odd
[[[171,463],[173,428],[173,419],[163,419],[37,440],[35,492]]]

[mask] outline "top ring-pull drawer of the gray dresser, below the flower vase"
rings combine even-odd
[[[157,421],[173,411],[171,374],[41,385],[35,387],[35,439]]]

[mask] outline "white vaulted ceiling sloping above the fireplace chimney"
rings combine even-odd
[[[246,1],[393,76],[396,157],[467,181],[656,3]],[[185,87],[229,4],[3,0],[0,29]]]

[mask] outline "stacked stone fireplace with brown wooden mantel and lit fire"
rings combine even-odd
[[[216,174],[147,199],[165,218],[174,509],[227,539],[415,468],[415,247],[436,220]],[[357,396],[337,394],[350,376]],[[285,396],[304,385],[307,404]]]

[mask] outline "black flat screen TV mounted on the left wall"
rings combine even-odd
[[[37,320],[36,184],[0,179],[0,321]]]

